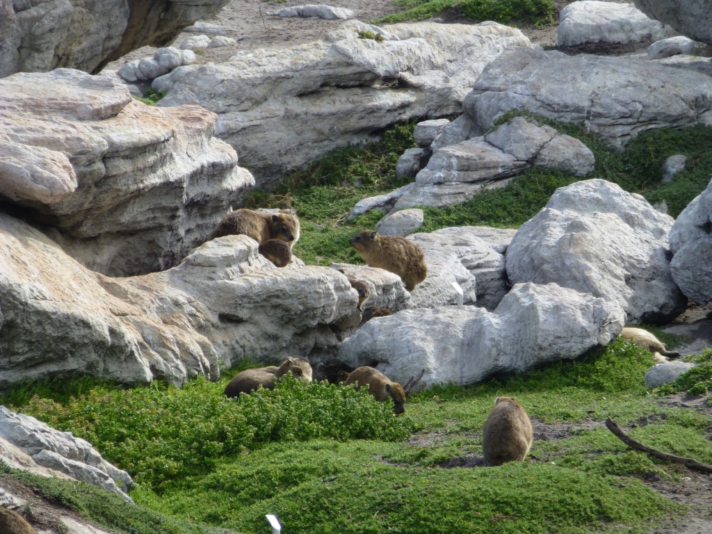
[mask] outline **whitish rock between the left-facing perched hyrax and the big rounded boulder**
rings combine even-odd
[[[493,310],[508,288],[505,253],[515,230],[456,226],[408,236],[425,255],[427,278],[411,292],[412,308],[461,303]]]

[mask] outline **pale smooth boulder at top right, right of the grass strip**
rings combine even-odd
[[[632,4],[579,0],[561,10],[556,44],[559,50],[622,53],[675,35]]]

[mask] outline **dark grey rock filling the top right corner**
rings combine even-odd
[[[669,24],[695,41],[712,44],[712,17],[707,0],[633,0],[651,19]]]

